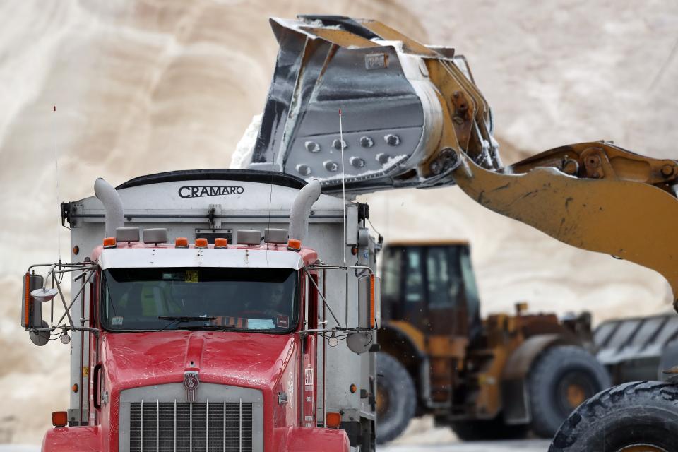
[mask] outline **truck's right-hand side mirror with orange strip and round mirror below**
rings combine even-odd
[[[375,342],[377,321],[380,307],[381,280],[374,274],[358,278],[358,327],[365,330],[351,333],[346,338],[346,345],[358,355],[369,351]]]

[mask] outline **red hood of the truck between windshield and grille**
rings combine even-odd
[[[273,388],[295,350],[292,335],[217,331],[105,333],[102,364],[112,389],[184,381]]]

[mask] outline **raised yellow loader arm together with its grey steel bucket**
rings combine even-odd
[[[561,242],[657,270],[676,299],[676,161],[595,142],[504,167],[492,112],[454,49],[376,20],[299,16],[271,25],[280,52],[246,166],[319,179],[326,192],[457,184]]]

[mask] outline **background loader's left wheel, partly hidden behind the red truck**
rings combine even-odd
[[[376,443],[383,444],[408,427],[417,409],[417,393],[408,370],[387,353],[376,354],[376,374]]]

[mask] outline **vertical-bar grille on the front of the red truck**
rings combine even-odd
[[[130,404],[130,452],[252,452],[252,403]]]

